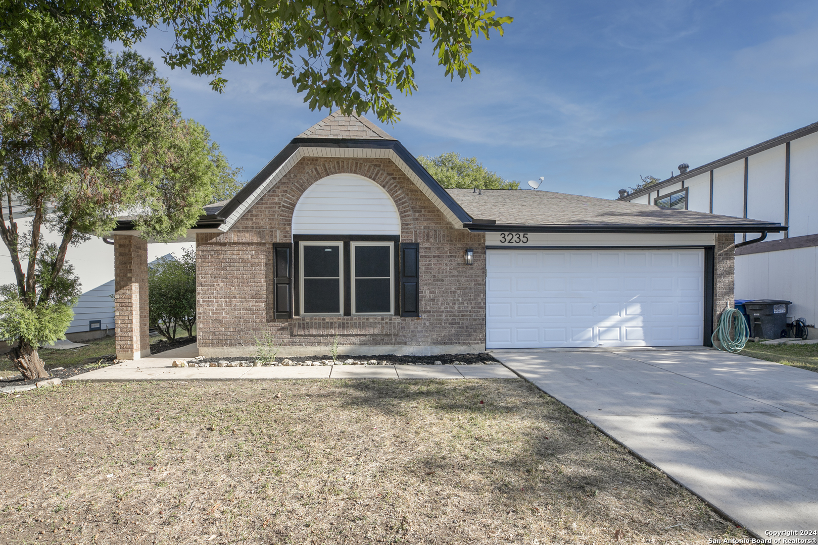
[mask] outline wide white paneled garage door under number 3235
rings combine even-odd
[[[703,249],[487,253],[487,348],[703,344]]]

